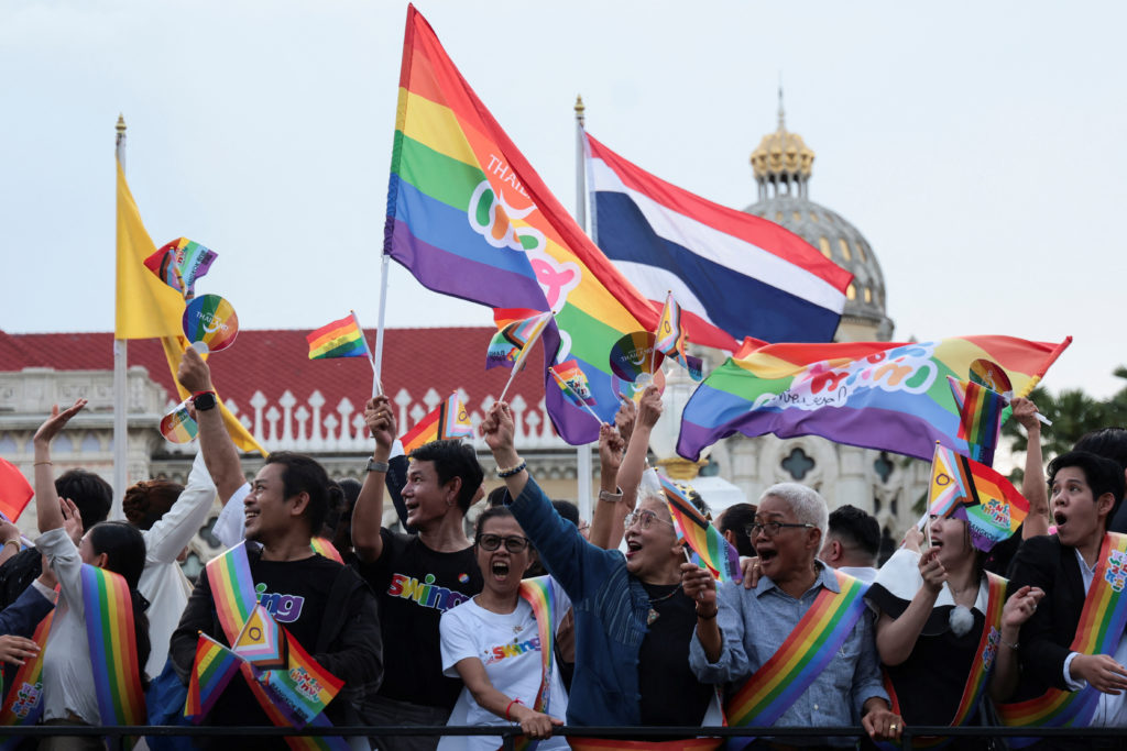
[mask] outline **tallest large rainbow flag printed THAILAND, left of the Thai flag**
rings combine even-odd
[[[654,331],[658,312],[623,277],[478,99],[415,8],[399,81],[384,252],[424,286],[491,307],[551,311],[544,365],[576,360],[611,422],[619,400],[609,352]],[[569,444],[598,426],[543,374],[548,413]]]

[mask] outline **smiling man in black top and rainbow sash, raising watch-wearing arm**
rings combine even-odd
[[[180,383],[195,396],[201,450],[221,495],[241,479],[238,452],[215,409],[206,364],[188,350]],[[221,482],[222,480],[222,482]],[[247,558],[258,602],[322,668],[345,686],[325,714],[334,724],[358,724],[358,694],[374,690],[383,673],[376,600],[356,572],[310,547],[329,510],[330,489],[340,492],[325,468],[308,456],[275,452],[246,495]],[[225,499],[224,499],[225,500]],[[192,674],[198,632],[229,644],[206,573],[172,634],[169,655],[180,679]],[[242,674],[233,678],[208,714],[212,725],[270,725]],[[202,739],[201,739],[202,740]],[[227,748],[231,739],[216,741]],[[242,749],[277,748],[278,739],[239,737]]]

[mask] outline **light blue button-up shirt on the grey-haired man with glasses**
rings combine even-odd
[[[795,599],[763,576],[754,589],[742,583],[720,584],[717,625],[724,641],[720,656],[709,662],[704,647],[693,632],[689,647],[689,664],[696,677],[709,683],[742,685],[771,659],[790,636],[798,622],[814,604],[823,587],[840,592],[834,572],[818,565],[818,578],[801,598]],[[873,641],[872,613],[866,609],[852,633],[822,674],[783,713],[779,726],[831,727],[860,725],[864,703],[888,694],[880,682],[877,645]],[[831,744],[852,745],[849,739],[826,739]]]

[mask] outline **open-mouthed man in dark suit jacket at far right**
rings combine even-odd
[[[1113,695],[1127,689],[1127,669],[1110,654],[1081,654],[1071,645],[1108,520],[1124,495],[1124,475],[1109,459],[1071,452],[1049,464],[1049,485],[1057,534],[1027,539],[1010,566],[1010,591],[1024,585],[1045,590],[1021,627],[1020,645],[1003,646],[1020,651],[1021,683],[1011,700],[1036,698],[1049,688],[1075,691],[1088,683]]]

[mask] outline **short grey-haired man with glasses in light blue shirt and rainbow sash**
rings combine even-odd
[[[751,588],[726,583],[718,592],[707,569],[682,566],[684,592],[698,601],[689,664],[702,681],[731,685],[731,725],[861,725],[873,740],[898,739],[904,723],[881,686],[862,599],[868,584],[817,558],[827,518],[816,491],[772,485],[746,528],[758,553]],[[814,652],[808,644],[817,645]],[[854,744],[850,737],[779,740],[802,748]],[[761,739],[751,748],[779,745]]]

